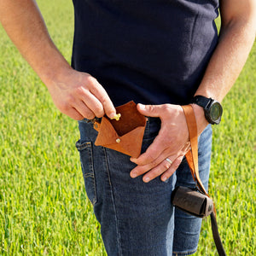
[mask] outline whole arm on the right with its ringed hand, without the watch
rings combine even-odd
[[[222,26],[219,43],[201,84],[195,92],[223,100],[236,81],[252,48],[256,32],[255,0],[221,0],[220,14]],[[201,107],[193,104],[198,134],[208,125]],[[180,106],[165,104],[160,106],[138,106],[138,110],[147,116],[160,117],[162,121],[160,133],[148,150],[132,159],[138,166],[131,171],[131,177],[144,175],[144,182],[161,175],[161,180],[171,177],[186,154],[188,145],[188,129]],[[172,136],[175,135],[175,137]],[[166,161],[172,160],[172,164]]]

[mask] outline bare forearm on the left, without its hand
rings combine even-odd
[[[49,38],[35,1],[0,0],[0,21],[44,84],[50,84],[56,74],[61,74],[61,69],[70,68]]]

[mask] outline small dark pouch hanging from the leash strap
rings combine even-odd
[[[178,186],[172,191],[172,205],[198,218],[204,218],[213,212],[213,201],[197,189]]]

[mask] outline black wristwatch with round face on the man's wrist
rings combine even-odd
[[[191,103],[194,103],[205,111],[207,121],[212,125],[218,125],[222,116],[222,106],[219,102],[205,96],[195,96]]]

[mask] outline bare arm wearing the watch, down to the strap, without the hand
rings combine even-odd
[[[253,46],[256,33],[256,2],[220,1],[221,29],[218,47],[196,95],[212,97],[221,102],[236,82]],[[204,112],[193,104],[197,114],[199,134],[207,125]]]

